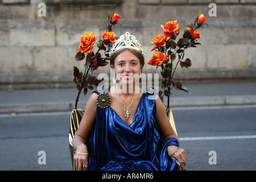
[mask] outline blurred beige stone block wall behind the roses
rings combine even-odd
[[[46,5],[46,16],[39,16],[39,3]],[[209,16],[210,3],[216,16]],[[255,79],[255,10],[256,0],[0,0],[0,89],[75,86],[73,65],[82,70],[84,64],[74,60],[80,35],[94,32],[99,38],[114,13],[122,16],[115,34],[135,35],[146,60],[154,54],[151,40],[162,34],[160,24],[177,20],[182,35],[187,22],[203,13],[209,26],[199,30],[204,45],[187,50],[193,65],[178,67],[175,78]],[[109,68],[98,71],[109,74]]]

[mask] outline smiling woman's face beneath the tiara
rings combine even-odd
[[[115,76],[121,84],[132,84],[139,77],[142,65],[139,58],[134,53],[126,50],[120,53],[111,65],[115,69]],[[119,83],[120,83],[119,82]]]

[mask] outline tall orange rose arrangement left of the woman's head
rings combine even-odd
[[[78,94],[76,97],[75,109],[77,109],[77,102],[79,101],[80,94],[83,90],[84,95],[88,92],[88,89],[92,90],[93,85],[97,86],[103,80],[97,80],[96,76],[92,76],[93,71],[97,70],[98,67],[104,67],[109,62],[109,50],[112,43],[116,41],[115,33],[112,32],[112,27],[118,23],[121,18],[120,15],[114,14],[109,16],[106,31],[102,33],[100,40],[97,42],[98,50],[92,51],[93,46],[96,43],[97,35],[92,32],[88,34],[85,32],[81,36],[81,42],[79,45],[79,52],[76,53],[75,60],[81,61],[85,59],[84,73],[80,72],[79,68],[73,67],[73,82],[77,85]],[[104,51],[104,56],[101,55],[100,51]]]

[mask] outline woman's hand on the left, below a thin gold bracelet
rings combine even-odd
[[[80,154],[76,154],[76,153],[80,153]],[[85,171],[86,166],[88,166],[87,164],[88,155],[86,155],[88,154],[88,151],[87,151],[86,145],[82,144],[77,146],[76,153],[74,155],[76,171]]]

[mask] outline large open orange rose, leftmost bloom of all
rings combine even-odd
[[[93,33],[88,34],[87,32],[84,33],[84,36],[81,36],[81,42],[79,46],[79,51],[81,53],[89,53],[93,49],[93,44],[97,39],[97,35]]]

